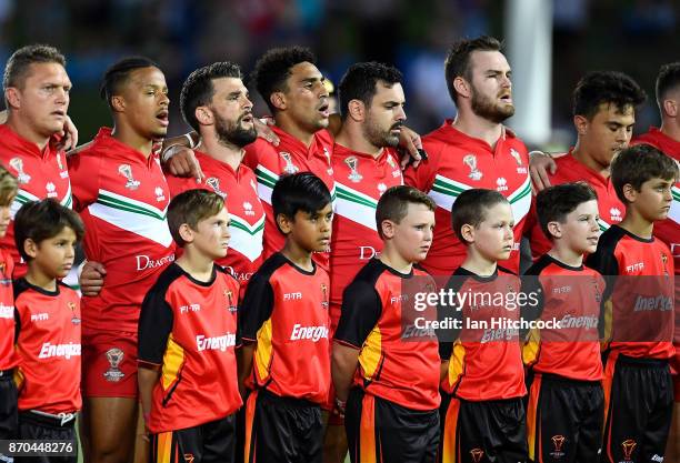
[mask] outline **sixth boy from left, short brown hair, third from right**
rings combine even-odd
[[[519,319],[519,279],[498,266],[513,249],[512,209],[499,192],[472,189],[458,197],[451,221],[468,254],[447,290],[469,298],[457,306],[440,305],[441,314],[462,318],[460,330],[440,333],[441,461],[524,462],[527,387],[519,332],[493,324]]]

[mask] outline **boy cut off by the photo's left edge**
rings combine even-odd
[[[10,208],[17,195],[17,179],[0,165],[0,239],[10,223]],[[14,354],[14,294],[12,270],[14,260],[9,250],[0,248],[0,440],[17,431],[17,385],[12,381],[18,359]],[[0,461],[3,455],[0,453]]]

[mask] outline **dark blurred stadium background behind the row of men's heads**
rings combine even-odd
[[[510,39],[509,9],[518,3],[552,10],[551,89],[544,93],[552,130],[539,144],[558,150],[573,142],[570,93],[589,70],[629,73],[650,95],[636,131],[658,124],[653,80],[661,63],[679,59],[677,0],[0,0],[0,62],[23,44],[58,47],[73,82],[69,113],[86,142],[111,123],[98,85],[120,57],[144,54],[160,64],[172,100],[170,134],[177,134],[187,130],[179,91],[193,69],[232,60],[248,72],[270,47],[306,44],[336,83],[357,61],[400,68],[408,123],[424,134],[456,111],[443,79],[447,48],[481,33]],[[528,21],[522,28],[536,26]],[[509,53],[518,89],[516,58]],[[256,113],[266,113],[259,97]]]

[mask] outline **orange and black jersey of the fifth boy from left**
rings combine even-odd
[[[414,278],[418,280],[404,291],[407,281]],[[437,336],[409,323],[403,305],[409,294],[433,288],[431,276],[422,270],[402,274],[372,259],[344,290],[334,340],[360,350],[354,384],[368,394],[407,409],[439,406]]]

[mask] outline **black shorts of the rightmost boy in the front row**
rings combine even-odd
[[[604,370],[604,397],[602,461],[663,461],[673,413],[668,361],[610,356]]]

